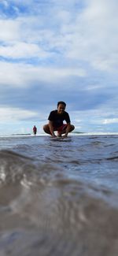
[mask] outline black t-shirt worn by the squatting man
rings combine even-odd
[[[59,114],[57,113],[57,110],[53,110],[50,112],[48,120],[53,121],[53,127],[56,128],[60,127],[63,124],[63,121],[66,121],[67,124],[71,122],[67,112]]]

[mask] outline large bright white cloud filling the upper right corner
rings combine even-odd
[[[67,31],[72,32],[72,42],[67,55],[89,61],[95,69],[116,69],[118,65],[118,3],[111,1],[87,1],[87,8],[76,16]],[[116,56],[114,60],[114,56]]]

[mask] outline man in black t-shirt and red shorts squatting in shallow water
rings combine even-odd
[[[43,126],[44,132],[50,134],[52,137],[61,137],[64,134],[63,138],[66,138],[68,132],[72,132],[75,129],[74,125],[71,124],[68,113],[65,112],[65,107],[65,102],[57,102],[57,109],[51,111],[48,117],[49,123]],[[55,131],[57,131],[57,135],[55,135]]]

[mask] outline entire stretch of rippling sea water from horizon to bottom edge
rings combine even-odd
[[[118,255],[118,133],[0,135],[0,256]]]

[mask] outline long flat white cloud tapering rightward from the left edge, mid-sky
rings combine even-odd
[[[6,76],[7,74],[7,76]],[[0,62],[0,84],[8,87],[29,87],[34,81],[55,83],[70,76],[86,76],[83,69],[54,69],[33,65]]]

